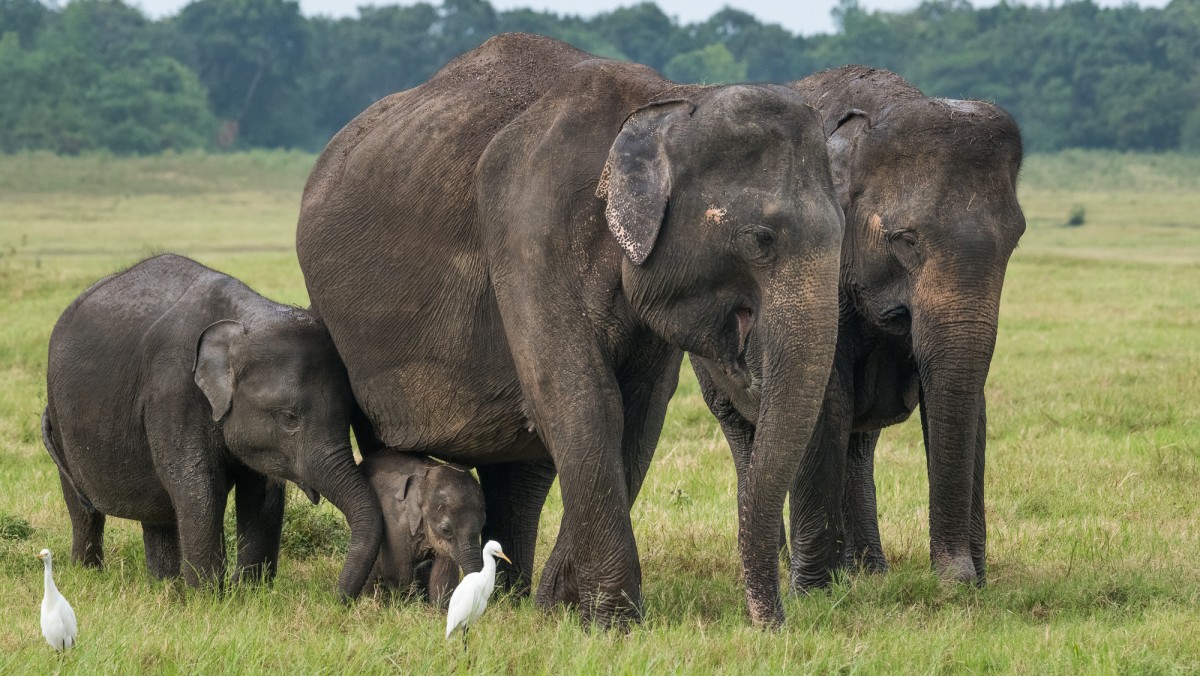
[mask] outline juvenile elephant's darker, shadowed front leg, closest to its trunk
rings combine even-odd
[[[278,568],[287,484],[246,471],[236,479],[238,564],[233,584],[271,581]]]

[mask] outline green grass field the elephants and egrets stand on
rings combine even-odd
[[[988,385],[989,586],[929,572],[919,425],[884,432],[886,576],[787,599],[750,627],[728,449],[685,369],[634,509],[646,622],[629,634],[496,600],[470,662],[420,605],[334,597],[344,526],[293,491],[280,575],[226,598],[152,581],[110,519],[107,568],[71,566],[41,443],[46,347],[95,279],[158,251],[306,303],[301,154],[0,156],[0,672],[1195,672],[1200,670],[1200,156],[1028,158]],[[1076,205],[1085,225],[1063,223]],[[560,516],[552,493],[539,557]],[[42,640],[43,546],[79,617]]]

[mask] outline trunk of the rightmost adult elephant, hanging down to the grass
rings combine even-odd
[[[930,558],[937,573],[983,582],[984,383],[996,347],[1002,281],[912,311],[929,468]],[[937,283],[936,288],[978,288]]]

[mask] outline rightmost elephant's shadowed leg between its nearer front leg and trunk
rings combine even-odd
[[[878,430],[850,435],[846,455],[846,567],[887,573],[888,562],[880,540],[880,516],[875,501],[875,445]]]

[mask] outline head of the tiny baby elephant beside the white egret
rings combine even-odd
[[[409,474],[395,496],[414,539],[425,539],[440,556],[454,558],[467,573],[482,567],[484,491],[470,472],[457,465],[430,467],[424,480]]]

